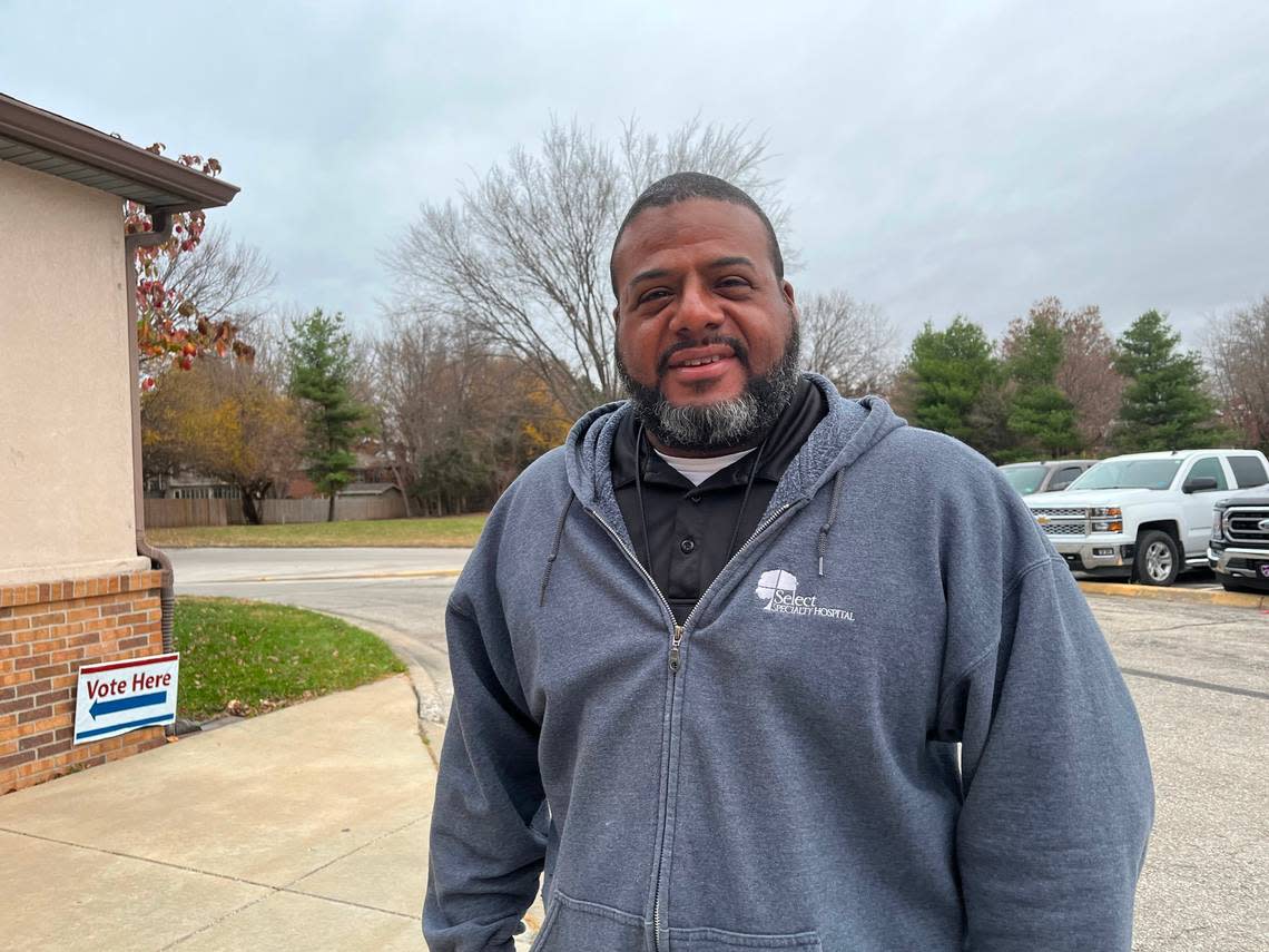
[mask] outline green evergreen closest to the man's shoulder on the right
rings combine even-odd
[[[977,324],[957,315],[947,330],[928,322],[912,340],[907,374],[915,391],[912,423],[962,439],[986,452],[975,409],[999,376],[991,341]]]

